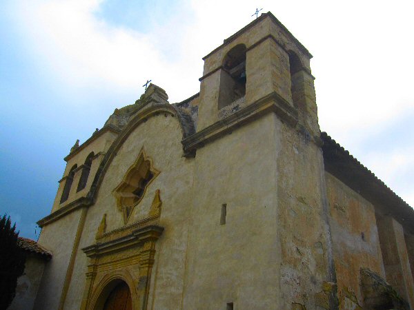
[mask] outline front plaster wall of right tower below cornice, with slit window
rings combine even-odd
[[[282,309],[280,126],[268,114],[197,149],[182,309],[226,309],[228,302],[235,309]],[[223,204],[226,224],[220,225]]]

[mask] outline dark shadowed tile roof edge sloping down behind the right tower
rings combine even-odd
[[[414,233],[414,209],[326,132],[322,132],[321,138],[324,143],[322,152],[326,172],[333,174],[375,205],[381,214],[393,216]]]

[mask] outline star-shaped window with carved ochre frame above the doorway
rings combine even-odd
[[[148,185],[158,174],[159,170],[152,165],[152,159],[146,156],[143,147],[137,160],[128,169],[124,179],[113,192],[117,199],[117,208],[124,215],[125,224],[128,223],[134,207],[144,197]]]

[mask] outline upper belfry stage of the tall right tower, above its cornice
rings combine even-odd
[[[290,122],[319,136],[311,58],[273,14],[262,14],[204,56],[197,131],[273,101],[272,108]]]

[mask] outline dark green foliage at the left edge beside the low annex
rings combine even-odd
[[[10,216],[0,218],[0,310],[11,304],[26,261],[25,252],[17,243],[19,231],[15,230]]]

